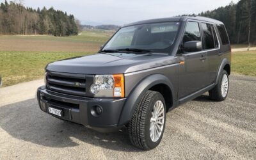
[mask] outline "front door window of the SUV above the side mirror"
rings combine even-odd
[[[198,40],[201,41],[200,29],[198,22],[188,22],[183,37],[183,43]]]

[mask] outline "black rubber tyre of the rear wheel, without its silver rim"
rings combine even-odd
[[[228,88],[227,88],[227,94],[223,97],[223,95],[221,94],[221,83],[222,83],[222,79],[223,76],[227,75],[227,79],[228,79],[228,73],[226,70],[223,70],[220,79],[218,80],[218,84],[216,84],[216,86],[214,86],[214,88],[212,88],[212,90],[209,90],[209,96],[212,100],[215,101],[223,101],[227,98],[228,95],[228,89],[229,89],[229,79],[228,79]]]

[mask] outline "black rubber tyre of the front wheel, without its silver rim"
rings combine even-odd
[[[152,141],[150,138],[150,118],[152,110],[157,100],[161,100],[164,106],[164,125],[161,136],[157,141]],[[131,122],[128,124],[129,138],[132,145],[142,148],[143,150],[150,150],[156,148],[163,138],[163,132],[166,120],[166,106],[163,95],[155,91],[147,91],[141,98],[140,102],[136,105],[132,115]]]

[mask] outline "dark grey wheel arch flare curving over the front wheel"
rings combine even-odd
[[[160,88],[158,88],[160,87]],[[118,125],[124,125],[129,122],[132,118],[132,113],[134,111],[134,108],[136,107],[136,104],[140,101],[141,97],[148,91],[148,90],[154,90],[157,92],[163,93],[171,93],[170,95],[163,95],[164,100],[167,100],[166,107],[168,109],[172,107],[173,100],[175,99],[173,97],[174,95],[174,89],[173,84],[170,82],[168,77],[163,76],[162,74],[152,74],[150,76],[145,77],[138,83],[131,93],[129,93],[129,96],[127,97],[127,100],[124,104],[124,107],[122,109],[122,113],[119,118]],[[168,105],[168,106],[167,106]],[[166,109],[166,110],[168,110]]]

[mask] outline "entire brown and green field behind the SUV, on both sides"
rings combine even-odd
[[[3,86],[44,77],[47,63],[93,54],[113,31],[83,31],[77,36],[0,36]],[[234,52],[232,72],[256,76],[256,51]]]

